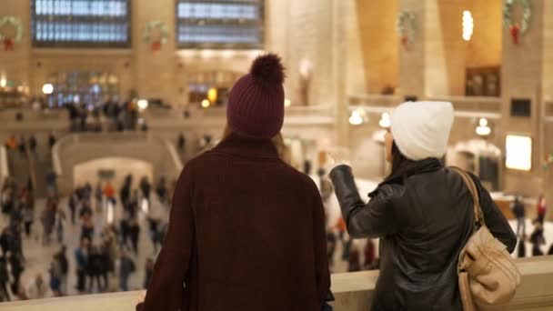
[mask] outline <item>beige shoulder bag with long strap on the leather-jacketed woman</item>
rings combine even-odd
[[[463,309],[472,311],[508,304],[520,284],[520,272],[507,246],[489,232],[472,177],[457,167],[451,169],[463,178],[474,201],[472,236],[461,250],[457,266]]]

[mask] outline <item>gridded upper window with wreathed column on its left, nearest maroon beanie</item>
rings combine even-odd
[[[262,48],[264,0],[178,0],[181,48]]]

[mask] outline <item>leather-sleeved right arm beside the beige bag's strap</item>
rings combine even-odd
[[[489,196],[488,190],[482,186],[478,177],[473,174],[470,174],[470,176],[478,188],[480,206],[482,207],[484,221],[486,222],[486,226],[488,226],[489,232],[507,246],[509,253],[512,253],[515,250],[515,246],[517,246],[517,235],[515,235],[511,226],[508,225],[507,218],[491,196]]]

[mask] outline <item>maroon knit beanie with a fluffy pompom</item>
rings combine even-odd
[[[272,138],[284,122],[284,66],[278,55],[256,58],[228,96],[226,120],[239,134]]]

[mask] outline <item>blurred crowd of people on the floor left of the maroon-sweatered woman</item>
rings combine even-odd
[[[55,193],[49,193],[41,207],[36,207],[30,182],[19,187],[14,180],[6,179],[0,197],[5,224],[0,234],[0,301],[69,295],[72,285],[67,284],[67,280],[71,271],[75,271],[74,288],[78,293],[126,291],[130,288],[129,277],[136,273],[136,260],[144,257],[145,279],[139,287],[133,288],[146,287],[167,230],[164,210],[170,203],[172,189],[167,186],[165,177],[153,186],[144,176],[136,188],[133,179],[133,176],[126,176],[118,193],[110,181],[98,182],[96,188],[90,183],[77,186],[66,200],[66,206],[61,205]],[[161,207],[151,207],[152,192]],[[113,216],[117,206],[122,206],[120,217]],[[112,210],[111,216],[106,216],[110,215],[108,209]],[[33,226],[35,211],[42,230]],[[141,211],[145,212],[146,230],[154,253],[139,257]],[[65,235],[67,226],[80,226],[79,244],[73,252],[66,246],[71,238]],[[33,238],[41,240],[43,246],[59,248],[47,271],[36,274],[30,284],[22,286],[23,246],[26,240]],[[68,256],[74,256],[75,266],[70,264]],[[45,276],[49,276],[47,280]],[[117,281],[110,281],[112,278]]]

